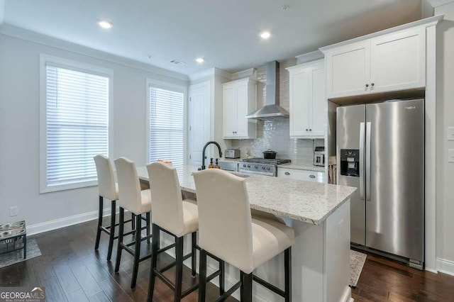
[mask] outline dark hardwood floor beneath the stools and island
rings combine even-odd
[[[120,272],[115,274],[114,261],[106,261],[108,237],[105,234],[101,235],[99,250],[94,251],[95,230],[96,222],[90,221],[31,236],[43,255],[0,269],[0,286],[45,286],[48,301],[57,302],[146,301],[150,261],[140,263],[137,286],[130,289],[133,258],[123,252]],[[150,246],[143,243],[142,252],[146,252]],[[159,259],[162,265],[172,260],[168,255],[160,255]],[[172,278],[173,274],[170,270],[167,276]],[[198,281],[192,278],[189,269],[184,269],[183,279],[183,289]],[[173,301],[172,291],[162,281],[156,282],[153,301]],[[216,286],[209,285],[207,301],[214,301],[217,293]],[[454,277],[420,272],[368,255],[352,293],[357,302],[454,301]],[[183,301],[197,301],[197,291]]]

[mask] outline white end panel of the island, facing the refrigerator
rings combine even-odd
[[[350,198],[325,221],[326,297],[323,301],[351,301]]]

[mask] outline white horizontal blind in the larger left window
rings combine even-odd
[[[109,77],[45,71],[47,186],[96,181],[93,157],[109,153]]]

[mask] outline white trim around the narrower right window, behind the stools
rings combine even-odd
[[[145,141],[147,144],[147,150],[145,154],[145,162],[148,164],[150,163],[150,86],[160,88],[160,89],[169,89],[173,91],[178,91],[183,94],[183,164],[187,164],[187,135],[188,135],[188,127],[187,127],[187,109],[188,109],[188,102],[187,102],[187,86],[182,86],[179,84],[173,84],[169,82],[160,81],[157,79],[147,79],[146,87],[145,87],[145,103],[146,103],[146,131],[145,131]]]

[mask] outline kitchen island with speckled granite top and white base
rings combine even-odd
[[[194,194],[192,173],[197,167],[184,166],[177,171],[182,191]],[[350,301],[350,196],[356,189],[294,179],[237,175],[246,180],[251,208],[279,216],[294,228],[292,301]],[[138,168],[138,176],[141,181],[148,181],[145,167]],[[189,251],[189,245],[186,248]],[[283,262],[283,255],[279,255],[259,267],[255,274],[283,289]],[[210,264],[214,271],[216,262]],[[238,269],[228,266],[226,286],[238,281],[238,276]],[[253,291],[255,301],[282,300],[258,284],[254,284]]]

